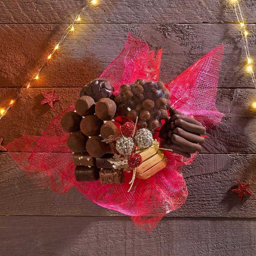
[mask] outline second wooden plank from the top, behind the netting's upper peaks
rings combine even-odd
[[[253,88],[237,24],[80,24],[32,87],[83,87],[122,51],[128,32],[163,48],[160,80],[168,83],[214,47],[225,44],[219,88]],[[67,25],[0,25],[0,87],[21,87],[47,58]],[[64,30],[64,31],[63,31]],[[256,25],[249,25],[249,48]],[[252,57],[255,57],[253,51]]]

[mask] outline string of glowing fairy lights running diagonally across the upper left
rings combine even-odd
[[[19,90],[16,92],[16,94],[14,95],[14,97],[12,98],[12,100],[10,100],[9,106],[7,108],[0,108],[0,120],[2,119],[2,117],[8,112],[8,110],[10,108],[12,108],[13,104],[15,103],[15,101],[17,99],[19,99],[21,97],[21,95],[26,92],[28,90],[28,88],[30,88],[33,84],[34,81],[37,81],[39,79],[39,74],[42,70],[42,68],[45,66],[45,64],[47,62],[49,62],[52,59],[53,54],[56,53],[56,51],[58,51],[60,49],[60,44],[64,41],[64,39],[68,36],[68,34],[72,33],[73,31],[75,31],[75,25],[77,23],[80,23],[82,21],[81,18],[81,13],[84,11],[85,7],[88,4],[91,5],[95,5],[97,4],[97,0],[87,0],[86,3],[84,4],[84,7],[81,9],[81,11],[76,15],[75,19],[73,20],[73,22],[68,26],[68,28],[66,29],[66,33],[61,37],[60,41],[55,45],[55,47],[53,48],[52,52],[50,52],[50,54],[47,56],[46,60],[44,60],[42,66],[33,74],[33,76],[31,77],[31,79],[26,83],[23,84],[22,87],[19,88]]]

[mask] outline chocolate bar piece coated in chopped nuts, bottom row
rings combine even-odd
[[[112,184],[112,183],[124,183],[124,171],[116,169],[102,169],[100,170],[100,183]]]

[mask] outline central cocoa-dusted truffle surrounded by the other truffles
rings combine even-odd
[[[100,127],[103,121],[95,115],[85,116],[80,123],[80,130],[87,136],[100,134]]]

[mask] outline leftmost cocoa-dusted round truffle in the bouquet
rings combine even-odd
[[[66,132],[77,132],[80,130],[82,117],[74,111],[66,112],[60,120],[61,128]]]

